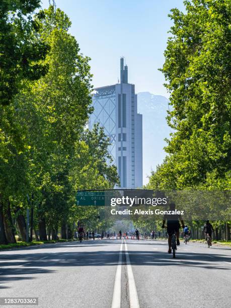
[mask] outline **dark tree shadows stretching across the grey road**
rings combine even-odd
[[[85,266],[116,266],[118,264],[118,250],[107,251],[106,246],[112,246],[112,244],[120,244],[120,241],[103,241],[100,243],[92,242],[91,245],[77,244],[76,242],[68,243],[68,245],[61,245],[62,248],[71,249],[86,248],[85,251],[66,251],[66,252],[33,252],[33,249],[28,249],[27,254],[1,254],[0,255],[0,288],[8,288],[4,286],[3,283],[14,280],[25,280],[25,279],[36,279],[37,274],[44,273],[55,273],[55,270],[49,269],[50,267],[85,267]],[[107,245],[108,243],[108,245]],[[134,243],[132,241],[129,244],[144,244],[144,243]],[[153,245],[165,245],[166,243],[158,243]],[[149,243],[146,243],[149,249]],[[93,249],[94,247],[101,246],[104,249],[100,251],[88,251],[89,246]],[[49,247],[58,248],[59,245]],[[137,247],[137,246],[136,246]],[[143,245],[142,245],[143,247]],[[43,247],[48,248],[48,247]],[[131,247],[130,247],[131,248]],[[177,251],[177,258],[173,259],[172,255],[167,254],[163,251],[145,251],[145,250],[130,250],[128,248],[130,264],[139,266],[187,266],[187,267],[201,267],[204,269],[219,269],[219,270],[230,270],[230,266],[225,266],[224,264],[218,264],[223,261],[230,261],[227,255],[222,254],[212,254],[212,259],[208,258],[208,252],[206,253],[192,253],[192,252],[181,252]],[[214,251],[213,251],[214,252]],[[123,251],[123,254],[125,252]],[[124,259],[124,258],[123,258]],[[25,263],[25,265],[23,265]],[[125,262],[123,262],[126,264]]]

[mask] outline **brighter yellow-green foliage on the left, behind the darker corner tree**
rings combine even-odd
[[[97,221],[98,209],[76,208],[76,190],[112,188],[118,175],[107,165],[103,129],[86,129],[92,75],[89,57],[68,33],[68,17],[50,6],[34,23],[49,46],[40,60],[48,69],[38,80],[22,79],[12,104],[0,105],[0,202],[9,200],[16,218],[33,207],[35,227],[45,219],[57,233],[63,223]]]

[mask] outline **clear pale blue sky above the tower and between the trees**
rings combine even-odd
[[[51,1],[52,2],[52,1]],[[128,65],[128,82],[135,91],[168,93],[158,70],[164,62],[168,17],[172,8],[184,11],[183,0],[55,0],[72,22],[70,33],[81,52],[91,57],[94,87],[117,83],[119,58]],[[47,8],[48,0],[42,1]]]

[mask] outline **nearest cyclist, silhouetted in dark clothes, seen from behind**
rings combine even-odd
[[[171,211],[175,211],[176,209],[176,204],[174,202],[170,203],[169,205],[169,209]],[[171,254],[171,242],[172,242],[172,236],[173,233],[176,232],[176,236],[177,236],[177,245],[180,245],[180,241],[179,241],[179,236],[180,236],[180,222],[182,224],[182,227],[184,228],[184,220],[181,217],[180,214],[165,214],[164,218],[163,218],[163,224],[162,224],[162,228],[165,227],[165,221],[167,220],[167,233],[169,235],[169,239],[168,239],[168,243],[169,243],[169,250],[168,253]]]

